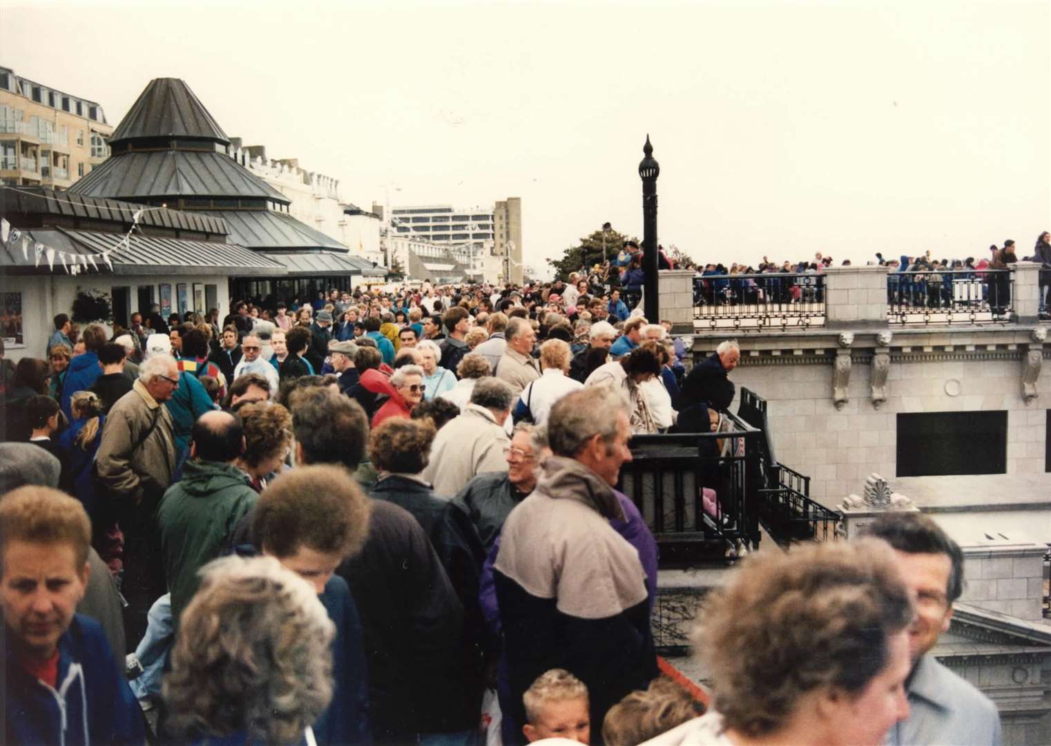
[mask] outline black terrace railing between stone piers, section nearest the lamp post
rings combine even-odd
[[[694,319],[712,329],[820,326],[825,277],[811,272],[694,277]]]

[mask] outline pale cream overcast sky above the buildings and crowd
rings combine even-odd
[[[0,64],[116,125],[184,79],[344,196],[522,198],[540,269],[605,221],[698,261],[1019,255],[1051,228],[1051,3],[0,0]]]

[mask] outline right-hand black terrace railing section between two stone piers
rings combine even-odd
[[[1007,322],[1014,311],[1014,275],[1007,269],[891,272],[891,324]]]

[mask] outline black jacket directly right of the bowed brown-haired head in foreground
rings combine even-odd
[[[365,546],[336,572],[365,628],[373,740],[477,727],[480,699],[463,682],[463,607],[416,519],[373,500]]]

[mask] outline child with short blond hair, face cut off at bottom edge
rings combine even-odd
[[[591,719],[588,716],[588,687],[564,668],[541,674],[522,696],[526,739],[569,739],[590,743]]]

